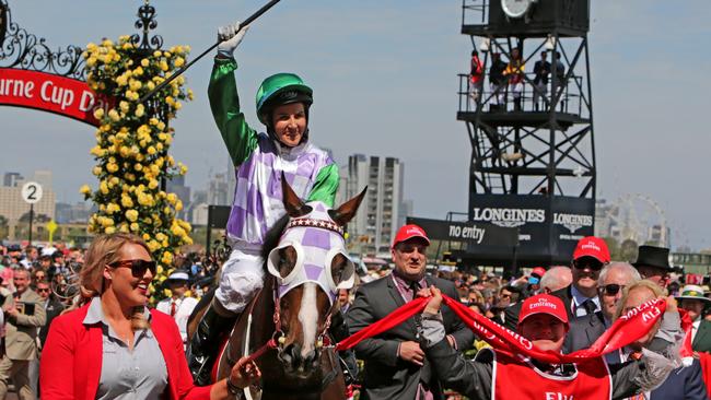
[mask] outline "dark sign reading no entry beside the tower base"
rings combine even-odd
[[[489,223],[453,222],[408,217],[408,224],[421,226],[431,239],[465,242],[480,246],[513,247],[518,244],[518,230]]]

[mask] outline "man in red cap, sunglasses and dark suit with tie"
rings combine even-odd
[[[550,293],[563,301],[568,311],[568,320],[584,317],[599,311],[597,297],[597,279],[599,271],[609,263],[607,244],[599,237],[587,236],[578,242],[573,251],[571,272],[573,283],[564,289]],[[506,308],[504,326],[515,330],[518,325],[521,304]]]

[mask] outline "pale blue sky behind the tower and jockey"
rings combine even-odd
[[[9,0],[13,21],[53,47],[85,45],[136,32],[142,1]],[[244,17],[255,0],[154,0],[166,46],[212,44],[217,27]],[[683,5],[680,5],[683,4]],[[459,34],[459,0],[283,0],[237,50],[237,83],[258,127],[254,93],[267,75],[301,74],[315,90],[312,138],[339,163],[349,154],[405,162],[405,193],[415,213],[465,211],[469,143],[456,120],[458,80],[469,38]],[[593,1],[590,33],[598,197],[642,193],[666,211],[674,246],[711,247],[711,186],[706,155],[711,80],[708,0]],[[188,185],[229,165],[207,103],[210,57],[186,74],[196,93],[174,126],[173,153]],[[61,201],[94,184],[93,129],[54,115],[0,108],[0,172],[55,172]],[[11,149],[11,151],[9,151]]]

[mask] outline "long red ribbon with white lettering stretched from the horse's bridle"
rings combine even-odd
[[[494,349],[512,354],[523,354],[550,364],[580,363],[623,348],[646,334],[666,310],[666,301],[664,298],[644,303],[622,315],[590,349],[580,350],[571,354],[560,354],[552,351],[540,351],[521,334],[512,332],[489,318],[474,313],[462,303],[446,295],[442,296],[444,303],[450,306],[462,321]],[[348,350],[364,339],[372,338],[396,327],[416,314],[422,313],[428,301],[428,297],[420,297],[407,303],[391,313],[387,317],[340,341],[336,344],[336,350]]]

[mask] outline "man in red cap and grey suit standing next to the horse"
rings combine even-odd
[[[429,244],[421,227],[400,227],[391,249],[395,269],[389,275],[360,286],[348,310],[350,334],[411,301],[421,289],[435,285],[447,296],[458,298],[453,282],[426,275],[424,252]],[[462,351],[469,349],[474,333],[448,308],[442,315],[450,345]],[[361,399],[443,399],[442,388],[420,349],[418,326],[419,316],[356,346],[356,355],[365,363]]]

